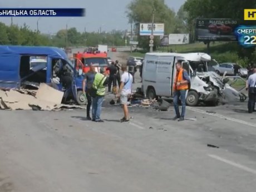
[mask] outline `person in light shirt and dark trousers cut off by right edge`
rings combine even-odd
[[[255,102],[256,102],[256,66],[253,69],[253,75],[250,75],[248,78],[248,112],[251,114],[255,111]]]

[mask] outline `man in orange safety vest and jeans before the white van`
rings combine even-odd
[[[176,116],[173,120],[179,119],[184,121],[185,110],[186,110],[186,90],[189,89],[190,78],[188,72],[181,67],[181,62],[176,63],[176,76],[174,80],[174,109]],[[181,97],[182,111],[180,115],[178,100]]]

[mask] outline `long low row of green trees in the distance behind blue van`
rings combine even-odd
[[[23,46],[97,46],[99,44],[109,46],[125,45],[124,33],[112,31],[111,33],[80,33],[76,28],[61,29],[53,37],[32,31],[24,23],[22,27],[17,25],[6,26],[0,22],[0,45],[23,45]],[[66,38],[67,37],[67,38]]]

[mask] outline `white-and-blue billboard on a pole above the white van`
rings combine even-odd
[[[151,35],[152,23],[140,23],[140,36]],[[153,25],[154,36],[164,35],[164,23],[154,23]]]

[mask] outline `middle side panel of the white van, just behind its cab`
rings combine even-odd
[[[156,95],[171,96],[173,67],[173,56],[159,56],[156,70]]]

